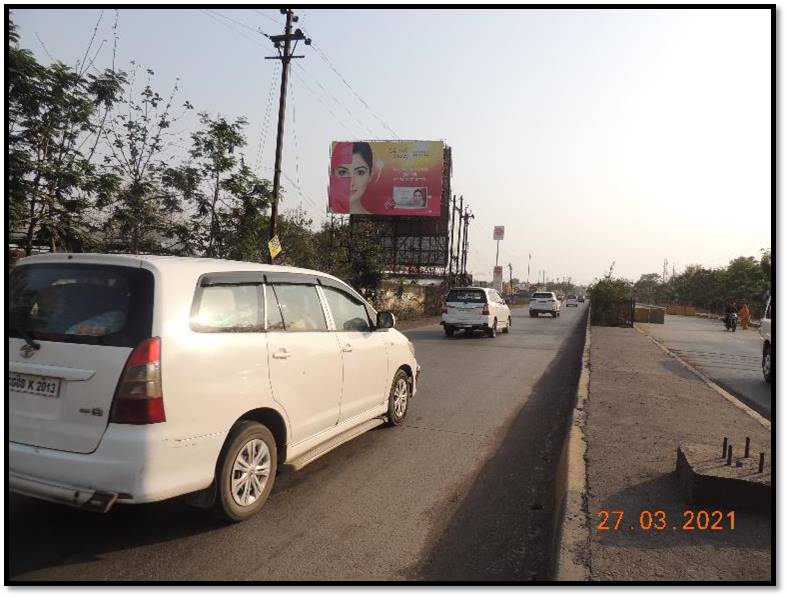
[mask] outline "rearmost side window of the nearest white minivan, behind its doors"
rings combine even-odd
[[[217,284],[198,290],[191,326],[200,332],[262,331],[259,284]]]

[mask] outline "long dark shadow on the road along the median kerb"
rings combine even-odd
[[[552,570],[555,473],[576,397],[585,317],[416,572],[425,581],[542,581]],[[489,399],[494,400],[494,395]]]

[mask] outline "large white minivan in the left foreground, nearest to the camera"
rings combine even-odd
[[[316,271],[51,254],[9,297],[9,485],[45,500],[243,520],[280,466],[400,424],[416,391],[393,314]]]

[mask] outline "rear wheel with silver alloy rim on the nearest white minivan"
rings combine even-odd
[[[257,463],[253,475],[249,475],[249,460]],[[213,513],[227,522],[240,522],[257,514],[273,489],[277,464],[276,440],[270,430],[256,421],[238,422],[224,442],[216,465]]]

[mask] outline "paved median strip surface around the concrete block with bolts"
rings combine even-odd
[[[753,451],[770,457],[770,431],[638,330],[593,327],[591,337],[584,429],[590,577],[770,580],[770,517],[738,511],[734,530],[681,530],[683,512],[692,506],[674,474],[681,441],[721,449],[726,435],[737,448],[748,436]],[[601,510],[625,513],[618,530],[597,528]],[[643,510],[665,511],[668,526],[638,530]]]

